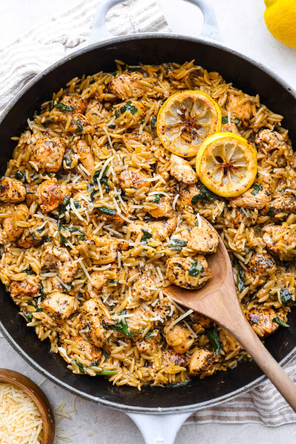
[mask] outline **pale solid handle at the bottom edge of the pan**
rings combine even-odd
[[[174,444],[179,428],[191,414],[126,413],[142,433],[145,444]]]

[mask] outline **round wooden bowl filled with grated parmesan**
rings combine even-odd
[[[55,419],[44,392],[31,379],[0,369],[0,443],[53,444]]]

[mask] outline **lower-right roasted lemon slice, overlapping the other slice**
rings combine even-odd
[[[223,197],[235,197],[252,185],[257,174],[257,153],[243,137],[217,133],[201,144],[196,156],[201,182]]]

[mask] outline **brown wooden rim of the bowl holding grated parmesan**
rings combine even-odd
[[[31,379],[9,369],[0,369],[0,382],[13,384],[26,393],[38,408],[43,424],[43,444],[53,444],[55,439],[55,417],[49,400]]]

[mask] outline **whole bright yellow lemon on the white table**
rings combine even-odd
[[[296,0],[264,0],[264,20],[272,36],[296,48]]]

